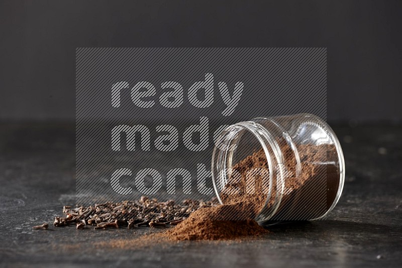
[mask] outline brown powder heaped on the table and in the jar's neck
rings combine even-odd
[[[254,220],[266,200],[262,193],[262,179],[256,178],[254,194],[246,194],[244,189],[246,172],[251,168],[265,167],[266,162],[263,152],[257,152],[237,163],[234,169],[242,176],[239,194],[223,194],[224,205],[198,209],[175,228],[160,235],[169,240],[229,240],[268,233]]]

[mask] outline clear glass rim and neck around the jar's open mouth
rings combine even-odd
[[[226,134],[224,134],[225,132]],[[232,169],[239,161],[250,156],[250,148],[256,149],[257,151],[263,150],[268,166],[268,175],[266,178],[268,185],[266,195],[264,196],[264,203],[260,204],[258,213],[255,214],[254,219],[260,224],[267,221],[279,208],[281,201],[281,194],[279,193],[282,193],[284,189],[283,170],[280,168],[280,165],[279,168],[277,167],[277,163],[283,163],[283,161],[276,141],[273,137],[270,137],[267,129],[252,121],[239,122],[227,127],[223,130],[220,138],[229,143],[227,143],[224,148],[215,146],[213,152],[212,176],[218,201],[220,204],[226,204],[221,199],[221,190],[225,186],[225,182],[227,182],[231,176],[231,174],[227,172],[222,174],[222,170]],[[248,147],[245,154],[239,153],[239,151],[244,149],[242,148],[243,143],[249,146],[251,140],[253,146]],[[220,172],[221,174],[219,174]]]

